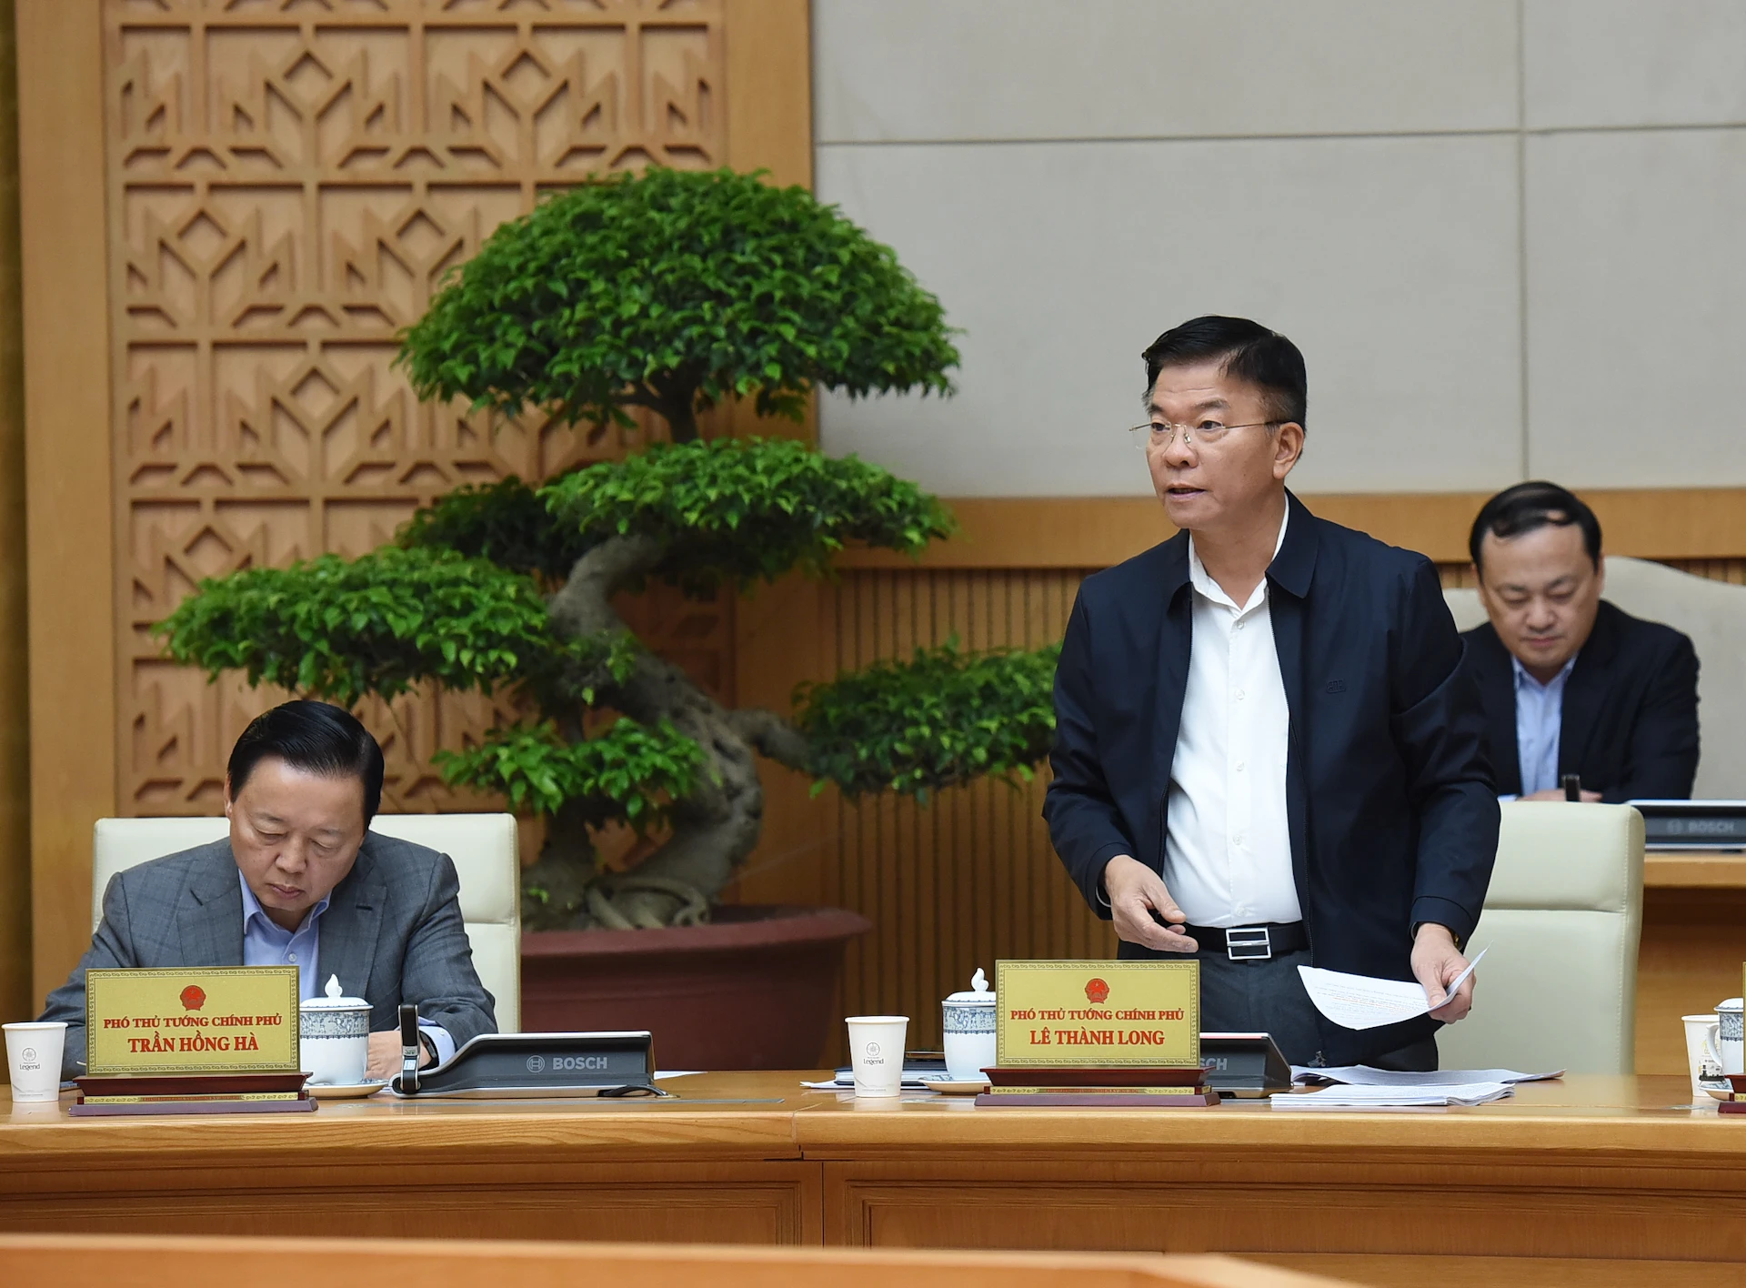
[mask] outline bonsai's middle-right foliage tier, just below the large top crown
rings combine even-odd
[[[581,541],[643,534],[667,553],[660,572],[690,590],[819,574],[850,541],[917,553],[952,515],[915,483],[856,457],[782,438],[655,443],[541,490]]]

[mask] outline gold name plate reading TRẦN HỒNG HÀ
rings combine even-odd
[[[297,967],[86,972],[86,1072],[295,1073]]]

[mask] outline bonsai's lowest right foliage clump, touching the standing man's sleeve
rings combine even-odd
[[[911,661],[803,684],[796,724],[812,740],[812,771],[850,796],[924,799],[985,775],[1028,780],[1055,735],[1058,658],[1060,646],[967,654],[953,639]]]

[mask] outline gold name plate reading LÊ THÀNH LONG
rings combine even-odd
[[[1200,962],[995,962],[995,1063],[1200,1066]]]

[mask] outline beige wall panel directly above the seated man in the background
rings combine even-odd
[[[1528,143],[1529,471],[1746,483],[1746,129]]]

